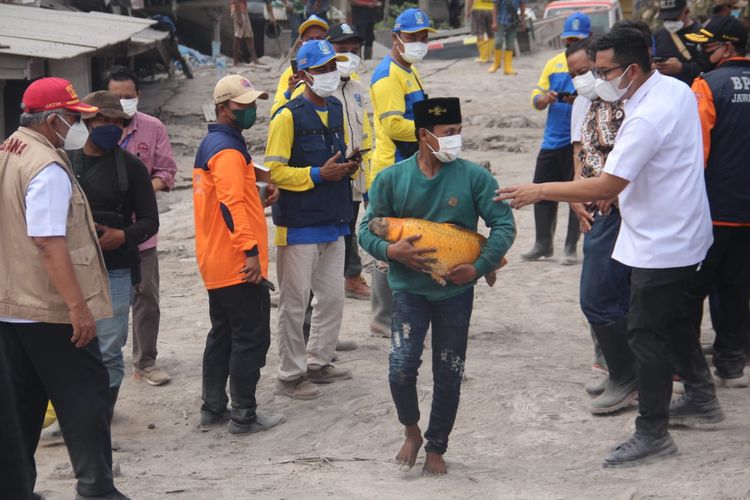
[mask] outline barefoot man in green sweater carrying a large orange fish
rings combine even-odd
[[[433,400],[424,471],[446,473],[443,454],[458,410],[474,283],[491,274],[515,239],[508,205],[493,204],[497,181],[458,158],[458,98],[414,103],[418,152],[385,169],[370,188],[362,248],[390,264],[393,290],[388,379],[406,440],[396,460],[412,467],[422,446],[417,370],[432,323]],[[481,217],[490,228],[476,234]]]

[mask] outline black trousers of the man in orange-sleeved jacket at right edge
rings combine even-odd
[[[742,376],[745,331],[750,300],[750,227],[714,226],[714,243],[696,275],[689,307],[692,326],[700,335],[703,301],[712,291],[718,298],[714,318],[714,365],[722,378]]]

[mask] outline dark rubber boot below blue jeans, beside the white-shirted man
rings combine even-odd
[[[609,367],[604,392],[591,402],[591,413],[605,415],[627,408],[637,398],[635,358],[628,345],[628,318],[609,325],[592,325]]]

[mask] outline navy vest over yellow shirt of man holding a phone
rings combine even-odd
[[[303,96],[296,97],[281,109],[289,108],[294,121],[294,142],[290,167],[322,167],[337,151],[340,163],[346,161],[344,109],[335,97],[326,98],[328,127],[320,121],[315,106]],[[323,181],[308,191],[281,190],[272,207],[277,226],[309,227],[348,224],[352,219],[352,188],[349,178]]]

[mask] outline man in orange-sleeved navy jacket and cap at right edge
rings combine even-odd
[[[750,300],[750,59],[747,31],[732,16],[714,16],[686,38],[715,65],[693,82],[703,131],[703,154],[714,242],[696,275],[690,304],[692,332],[700,334],[703,300],[718,297],[714,366],[725,387],[750,383],[745,331]],[[712,314],[712,316],[714,316]]]

